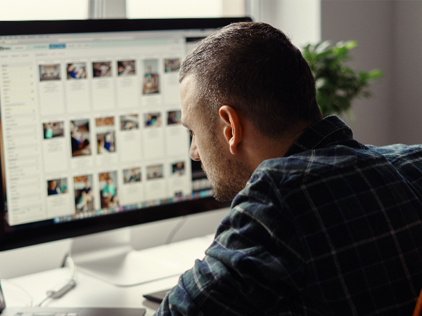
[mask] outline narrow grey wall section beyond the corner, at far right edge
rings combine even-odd
[[[394,1],[392,142],[422,143],[422,1]]]

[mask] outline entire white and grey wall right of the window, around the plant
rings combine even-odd
[[[255,20],[293,37],[293,43],[354,39],[350,66],[383,70],[372,98],[354,100],[352,127],[366,144],[422,143],[421,0],[251,0]]]

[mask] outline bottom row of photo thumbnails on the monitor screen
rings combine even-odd
[[[170,165],[171,176],[183,176],[185,174],[184,162],[175,162]],[[75,213],[82,211],[94,211],[93,175],[73,177],[73,190],[75,193]],[[146,180],[164,178],[164,165],[154,164],[146,167]],[[123,185],[140,183],[142,180],[141,168],[123,170]],[[99,196],[101,209],[108,209],[119,205],[117,171],[98,174]],[[47,195],[68,194],[68,178],[54,178],[46,183]],[[179,193],[181,195],[181,192]]]

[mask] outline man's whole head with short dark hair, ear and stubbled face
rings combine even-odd
[[[191,158],[202,162],[220,200],[233,199],[264,159],[283,155],[264,157],[251,130],[271,145],[285,144],[321,119],[307,62],[264,23],[235,23],[200,41],[179,81],[182,123],[193,133]]]

